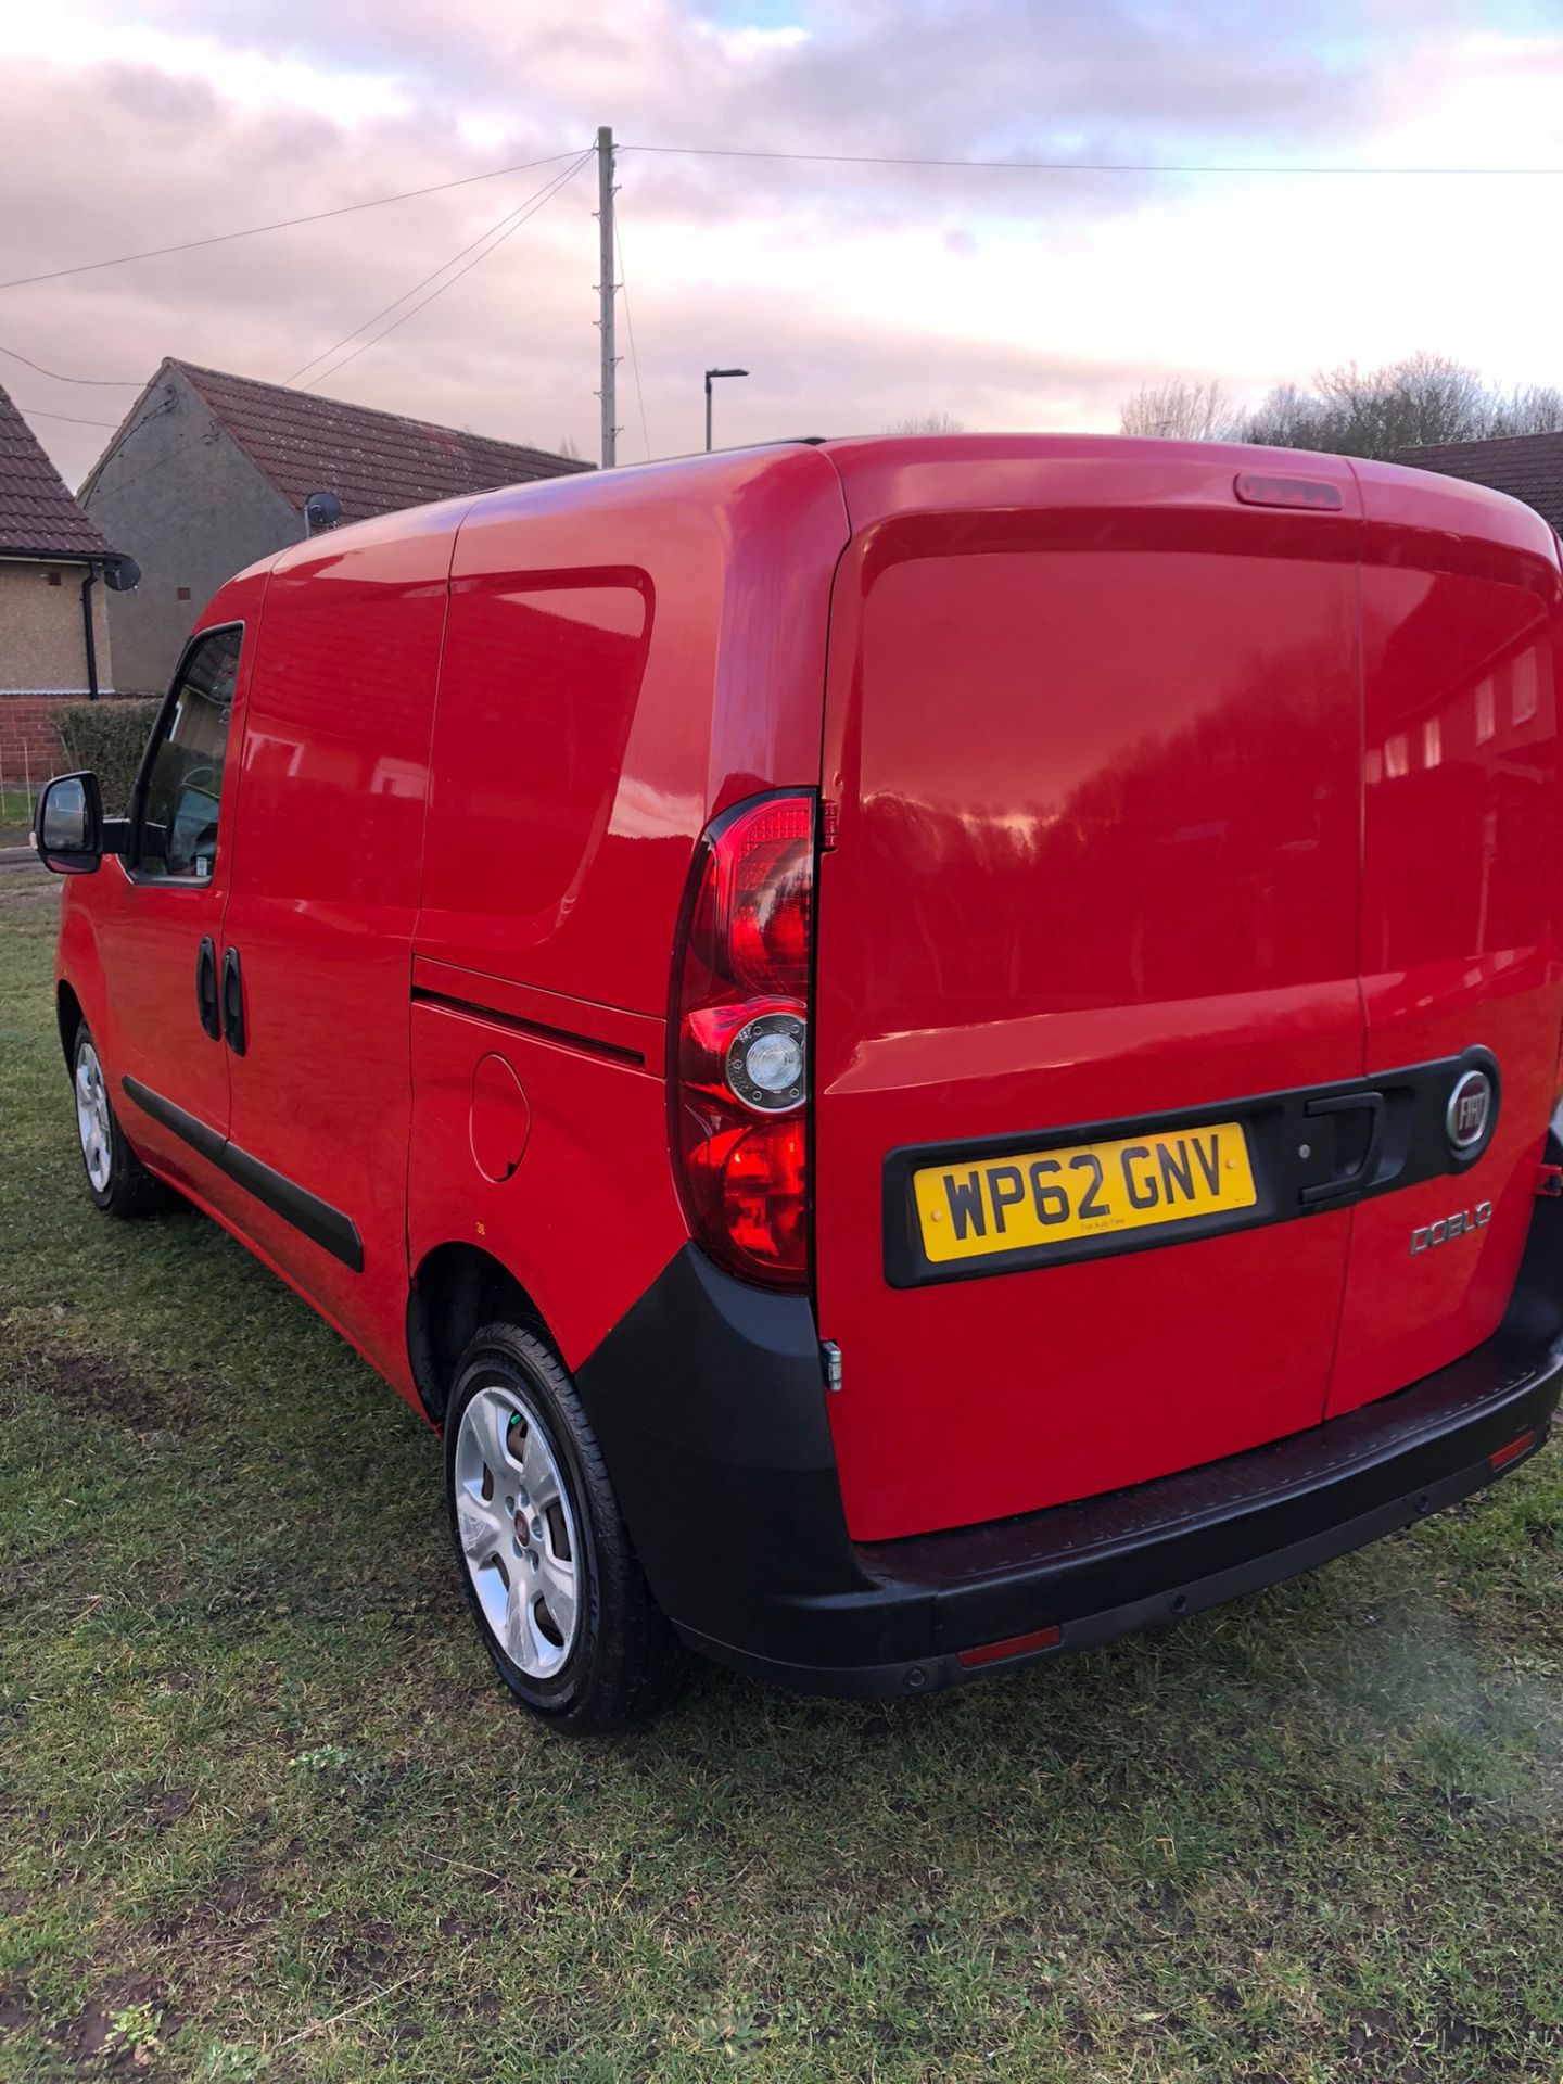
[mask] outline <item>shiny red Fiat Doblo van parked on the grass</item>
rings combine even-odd
[[[40,807],[92,1198],[427,1413],[563,1728],[1307,1569],[1559,1394],[1561,600],[1480,488],[1096,438],[302,542]]]

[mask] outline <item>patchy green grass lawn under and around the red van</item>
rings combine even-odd
[[[0,2078],[1563,2078],[1563,1459],[942,1701],[523,1721],[433,1440],[98,1217],[0,875]],[[721,1559],[713,1559],[721,1567]]]

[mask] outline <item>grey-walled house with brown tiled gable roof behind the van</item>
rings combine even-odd
[[[304,500],[344,521],[592,469],[400,413],[169,356],[81,486],[88,519],[142,567],[110,611],[119,686],[160,694],[217,588],[304,534]]]

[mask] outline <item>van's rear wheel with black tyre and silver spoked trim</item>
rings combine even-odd
[[[538,1332],[490,1323],[456,1363],[446,1503],[467,1598],[494,1669],[575,1736],[644,1721],[688,1653],[629,1544],[592,1428]]]

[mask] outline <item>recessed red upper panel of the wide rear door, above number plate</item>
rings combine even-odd
[[[863,652],[867,873],[923,950],[896,1027],[1355,973],[1355,900],[1319,898],[1328,863],[1355,886],[1348,569],[917,561],[875,581]]]

